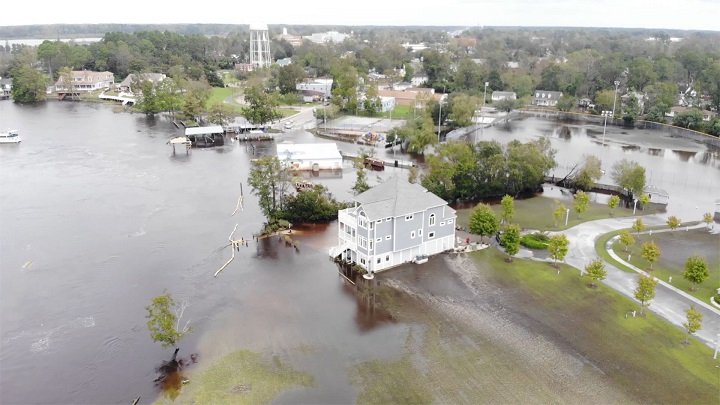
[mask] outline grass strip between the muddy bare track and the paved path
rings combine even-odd
[[[529,299],[527,316],[563,336],[627,392],[640,395],[640,401],[717,403],[720,361],[695,338],[682,345],[684,330],[648,310],[646,316],[626,318],[628,311],[639,310],[638,303],[602,283],[589,288],[590,280],[569,266],[562,265],[557,274],[549,263],[507,263],[495,249],[471,256],[478,271]]]

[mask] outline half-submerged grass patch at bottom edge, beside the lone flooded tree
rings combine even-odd
[[[177,399],[158,403],[266,404],[289,388],[314,385],[311,374],[293,370],[277,356],[249,350],[230,353],[189,379]]]

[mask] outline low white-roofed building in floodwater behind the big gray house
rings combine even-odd
[[[277,145],[277,157],[285,167],[294,170],[339,170],[342,155],[332,143],[291,143]]]

